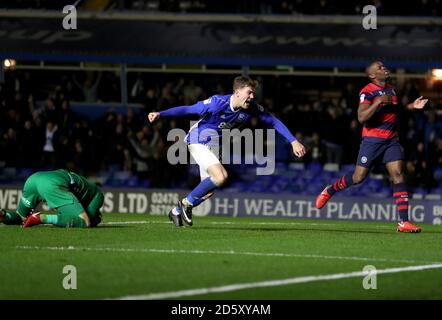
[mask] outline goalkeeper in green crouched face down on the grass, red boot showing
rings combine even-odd
[[[34,212],[45,201],[56,212]],[[0,211],[0,222],[21,225],[38,224],[57,227],[90,228],[101,222],[100,208],[104,195],[85,177],[67,170],[39,171],[25,182],[17,210]]]

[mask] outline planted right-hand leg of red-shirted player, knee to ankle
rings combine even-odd
[[[408,191],[405,185],[404,161],[397,160],[385,164],[393,183],[393,197],[401,221],[408,221]]]

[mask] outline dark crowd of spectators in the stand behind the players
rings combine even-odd
[[[305,165],[354,163],[361,137],[356,120],[358,90],[365,79],[257,79],[261,83],[257,100],[283,119],[307,146]],[[166,137],[172,128],[187,131],[189,119],[162,119],[150,125],[146,115],[193,104],[213,92],[228,94],[230,82],[230,76],[220,75],[131,74],[129,102],[140,107],[123,113],[108,108],[91,119],[77,114],[71,105],[118,102],[119,79],[113,73],[8,71],[6,81],[0,83],[0,168],[64,167],[89,176],[125,172],[127,178],[136,177],[144,185],[185,187],[183,181],[192,176],[185,165],[168,163],[167,148],[172,142]],[[419,81],[402,84],[398,88],[402,104],[418,97],[420,86]],[[440,120],[434,104],[424,111],[404,110],[402,114],[400,132],[411,187],[428,192],[439,187],[433,172],[442,169]],[[260,124],[254,119],[251,127]],[[277,140],[277,161],[300,161],[291,156],[282,140]]]

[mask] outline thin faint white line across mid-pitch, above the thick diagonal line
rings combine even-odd
[[[400,263],[439,263],[435,261],[416,261],[408,259],[384,259],[367,257],[346,257],[346,256],[326,256],[319,254],[296,254],[296,253],[278,253],[278,252],[248,252],[234,250],[174,250],[174,249],[137,249],[137,248],[90,248],[90,247],[38,247],[38,246],[16,246],[16,249],[24,250],[54,250],[54,251],[106,251],[106,252],[135,252],[135,253],[170,253],[170,254],[214,254],[214,255],[235,255],[235,256],[259,256],[259,257],[292,257],[307,259],[328,259],[328,260],[354,260],[354,261],[379,261],[379,262],[400,262]]]

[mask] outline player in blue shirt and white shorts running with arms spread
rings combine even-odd
[[[176,227],[183,226],[182,220],[191,226],[193,224],[192,209],[212,196],[214,190],[227,180],[227,171],[218,155],[218,142],[223,129],[238,128],[251,117],[257,117],[283,135],[291,143],[293,153],[297,157],[305,155],[304,146],[296,140],[289,129],[254,101],[256,86],[256,81],[246,76],[239,76],[233,81],[233,94],[214,95],[192,106],[180,106],[149,113],[150,122],[160,117],[200,116],[197,124],[190,128],[186,136],[186,144],[190,154],[199,165],[201,182],[169,212],[169,219]],[[208,132],[211,136],[207,136]]]

